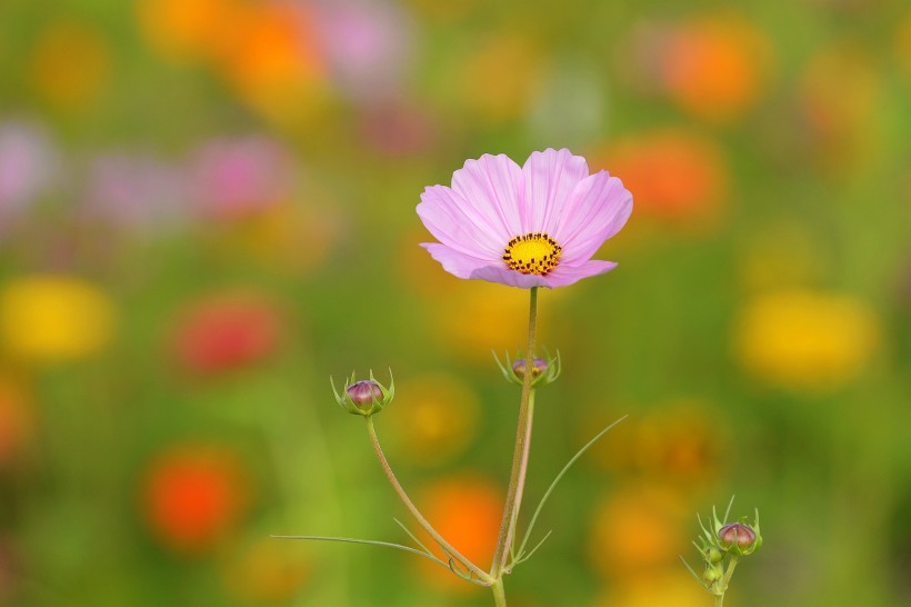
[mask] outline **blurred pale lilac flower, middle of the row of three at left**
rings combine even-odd
[[[128,228],[159,228],[186,215],[187,179],[178,167],[150,156],[111,153],[87,170],[84,211]]]

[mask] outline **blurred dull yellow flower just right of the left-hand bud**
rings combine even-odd
[[[434,374],[396,387],[394,448],[409,461],[433,466],[463,452],[478,430],[478,397],[458,377]]]

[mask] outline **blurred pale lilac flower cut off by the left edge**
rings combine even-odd
[[[50,185],[54,153],[40,128],[27,122],[0,125],[0,230]]]

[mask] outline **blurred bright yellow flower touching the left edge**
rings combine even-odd
[[[30,361],[97,354],[111,340],[113,317],[108,296],[79,278],[19,278],[0,292],[2,344],[11,355]]]

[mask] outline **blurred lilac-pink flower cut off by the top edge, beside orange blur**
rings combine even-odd
[[[342,91],[356,99],[396,92],[413,46],[399,7],[386,0],[322,0],[314,13],[319,44]]]

